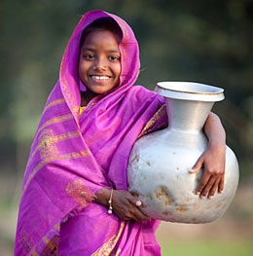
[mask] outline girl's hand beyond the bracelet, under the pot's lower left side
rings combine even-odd
[[[145,215],[139,208],[141,201],[125,190],[114,190],[112,197],[113,212],[122,220],[133,219],[146,221],[150,217]]]

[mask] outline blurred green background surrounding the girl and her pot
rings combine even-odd
[[[1,0],[0,255],[13,255],[22,176],[61,56],[81,16],[93,9],[133,28],[138,84],[153,90],[159,81],[195,81],[225,89],[213,111],[240,166],[235,201],[212,224],[163,223],[163,255],[253,255],[251,0]]]

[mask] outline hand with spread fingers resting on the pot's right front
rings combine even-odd
[[[209,147],[199,157],[196,165],[189,171],[196,173],[203,166],[203,174],[201,176],[197,195],[200,199],[212,199],[218,189],[218,193],[222,193],[224,189],[224,174],[226,162],[226,145],[224,143],[212,142]]]

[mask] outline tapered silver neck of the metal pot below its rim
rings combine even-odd
[[[214,102],[164,97],[168,129],[177,132],[199,133]]]

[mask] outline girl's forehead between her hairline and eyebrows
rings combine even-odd
[[[109,30],[91,31],[84,40],[82,48],[114,49],[119,51],[119,44],[115,35]]]

